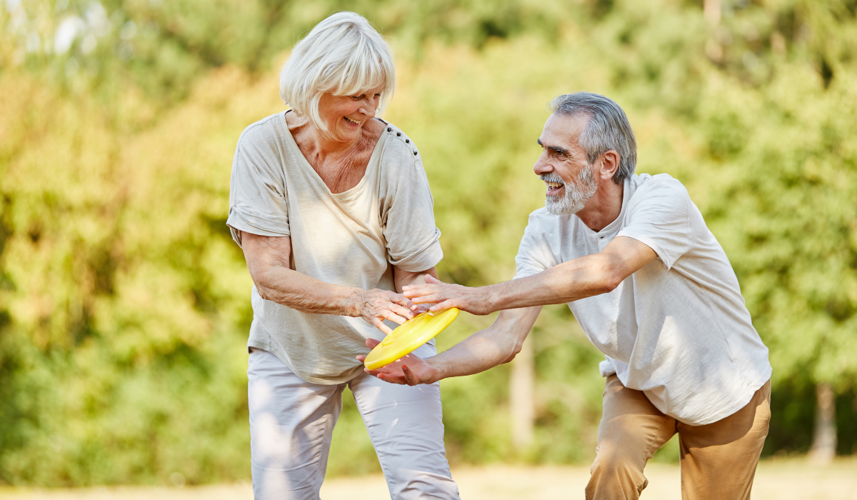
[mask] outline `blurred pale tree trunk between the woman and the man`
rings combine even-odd
[[[528,337],[524,340],[521,352],[518,352],[512,361],[512,377],[509,381],[512,444],[521,451],[533,442],[533,422],[536,419],[533,397],[535,378],[532,340]]]

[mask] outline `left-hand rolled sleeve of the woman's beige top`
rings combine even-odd
[[[282,156],[267,138],[264,123],[244,130],[232,160],[229,218],[232,239],[241,246],[239,231],[260,236],[289,236],[289,204]]]

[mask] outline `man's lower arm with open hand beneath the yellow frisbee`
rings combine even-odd
[[[521,345],[540,310],[541,307],[527,307],[501,311],[490,327],[470,335],[437,356],[423,359],[408,354],[369,373],[389,383],[417,385],[434,383],[442,378],[473,375],[508,363],[521,351]],[[370,348],[378,343],[378,340],[366,340]],[[360,361],[365,358],[357,356]]]

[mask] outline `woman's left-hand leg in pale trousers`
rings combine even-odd
[[[317,500],[345,384],[309,383],[252,349],[247,378],[256,500]]]

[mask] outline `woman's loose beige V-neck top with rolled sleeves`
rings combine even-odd
[[[434,201],[417,148],[387,123],[363,179],[333,194],[304,158],[280,112],[243,131],[232,162],[229,219],[237,231],[291,237],[291,268],[326,283],[394,290],[393,265],[410,272],[440,262]],[[249,347],[272,352],[311,383],[344,383],[363,370],[366,337],[384,334],[360,317],[307,314],[264,300],[253,287]],[[395,326],[394,323],[389,323]]]

